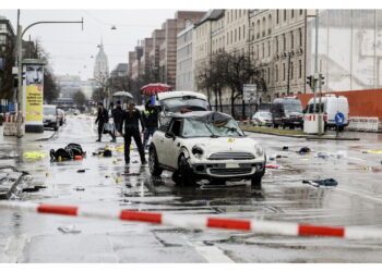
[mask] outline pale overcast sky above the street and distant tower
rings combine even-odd
[[[103,37],[109,69],[119,62],[128,62],[128,52],[133,50],[139,39],[150,37],[155,28],[160,28],[166,18],[171,18],[176,10],[21,10],[21,24],[25,27],[36,21],[81,21],[81,24],[52,24],[33,26],[24,39],[38,38],[50,53],[50,62],[56,74],[80,75],[82,79],[93,76],[97,45]],[[12,21],[16,29],[16,10],[0,10]],[[110,27],[116,25],[117,30]]]

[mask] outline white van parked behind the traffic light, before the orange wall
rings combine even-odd
[[[319,101],[320,98],[315,98],[315,107],[317,113],[319,112]],[[345,126],[349,124],[349,103],[347,98],[344,96],[335,96],[335,95],[325,95],[321,98],[321,110],[324,113],[325,128],[335,127],[335,114],[341,112],[345,116],[345,122],[339,126],[339,129],[343,131]],[[306,113],[314,113],[314,98],[312,97],[306,109]]]

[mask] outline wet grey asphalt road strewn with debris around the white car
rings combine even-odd
[[[140,164],[136,151],[130,166],[123,153],[112,158],[91,153],[109,143],[95,143],[93,120],[81,115],[47,141],[7,139],[0,165],[28,171],[33,184],[47,188],[22,193],[20,200],[92,207],[133,209],[179,214],[212,214],[232,219],[266,219],[299,223],[377,226],[382,228],[382,156],[362,150],[382,150],[381,134],[347,133],[359,141],[312,141],[249,134],[273,158],[261,189],[249,182],[240,186],[179,187],[170,173],[152,178]],[[81,144],[88,156],[83,161],[25,160],[25,151],[49,152],[69,143]],[[118,147],[122,138],[118,138]],[[283,151],[288,146],[288,151]],[[308,146],[317,152],[298,154]],[[318,158],[326,152],[327,158]],[[321,156],[325,157],[325,156]],[[118,160],[120,159],[120,160]],[[86,169],[85,173],[76,173]],[[124,172],[136,176],[120,175]],[[116,178],[120,177],[120,182]],[[337,187],[313,187],[302,180],[333,177]],[[80,190],[79,190],[80,189]],[[84,189],[84,190],[82,190]],[[228,231],[189,231],[130,222],[26,214],[0,210],[0,262],[381,262],[381,242],[320,237],[259,236]],[[58,228],[74,226],[80,233]]]

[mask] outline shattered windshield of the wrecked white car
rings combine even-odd
[[[244,136],[235,120],[210,123],[196,119],[184,119],[182,136],[188,137],[241,137]]]

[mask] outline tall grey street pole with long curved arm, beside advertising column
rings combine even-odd
[[[81,21],[38,21],[32,23],[23,30],[23,27],[20,25],[20,10],[17,10],[17,81],[19,81],[19,92],[17,92],[17,137],[22,137],[21,131],[21,121],[22,121],[22,111],[23,111],[23,88],[22,88],[22,59],[23,59],[23,36],[27,29],[32,26],[39,24],[81,24],[82,29],[84,29],[84,18]]]

